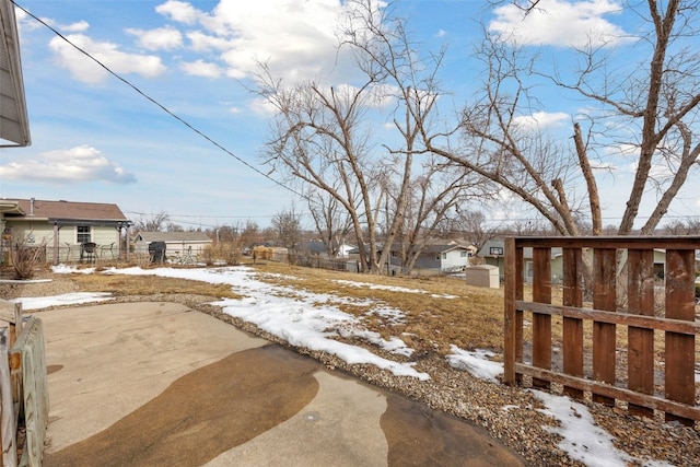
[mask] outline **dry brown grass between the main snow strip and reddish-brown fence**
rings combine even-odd
[[[369,329],[400,337],[419,354],[446,354],[450,345],[462,349],[503,349],[503,291],[470,287],[464,280],[446,277],[385,277],[328,271],[268,262],[256,266],[261,279],[280,285],[292,285],[314,293],[328,293],[354,299],[372,299],[405,313],[405,323],[393,323],[381,316],[364,315],[368,308],[340,306],[342,311],[363,317]],[[266,276],[268,272],[270,276]],[[343,284],[351,281],[361,287]],[[363,285],[368,284],[368,285]],[[401,290],[371,289],[370,284],[389,285]]]

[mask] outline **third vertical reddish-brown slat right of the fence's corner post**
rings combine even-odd
[[[616,307],[616,253],[615,248],[596,248],[593,252],[593,307],[614,312]],[[616,365],[615,325],[593,322],[593,378],[615,384]],[[593,395],[596,402],[614,406],[610,397]]]

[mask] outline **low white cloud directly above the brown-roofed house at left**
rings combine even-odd
[[[96,180],[121,185],[136,183],[133,174],[109,162],[98,150],[86,144],[45,152],[37,159],[10,162],[0,166],[0,178],[58,184]]]

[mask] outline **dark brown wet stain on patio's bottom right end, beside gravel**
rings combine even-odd
[[[388,466],[524,466],[482,429],[421,404],[387,396],[381,419]]]

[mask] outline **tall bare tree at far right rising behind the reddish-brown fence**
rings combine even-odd
[[[606,57],[599,48],[590,46],[580,50],[584,65],[578,70],[575,82],[555,78],[560,86],[607,107],[611,117],[600,118],[602,125],[616,119],[619,128],[640,129],[620,141],[635,148],[637,156],[620,235],[631,233],[648,191],[657,194],[657,202],[641,233],[653,234],[700,156],[696,133],[700,117],[700,54],[695,39],[688,40],[698,34],[698,4],[648,0],[648,8],[646,13],[639,12],[652,26],[638,44],[638,49],[649,50],[642,56],[639,73],[600,75]],[[597,79],[602,83],[595,85]],[[654,173],[658,167],[665,167],[662,174]]]

